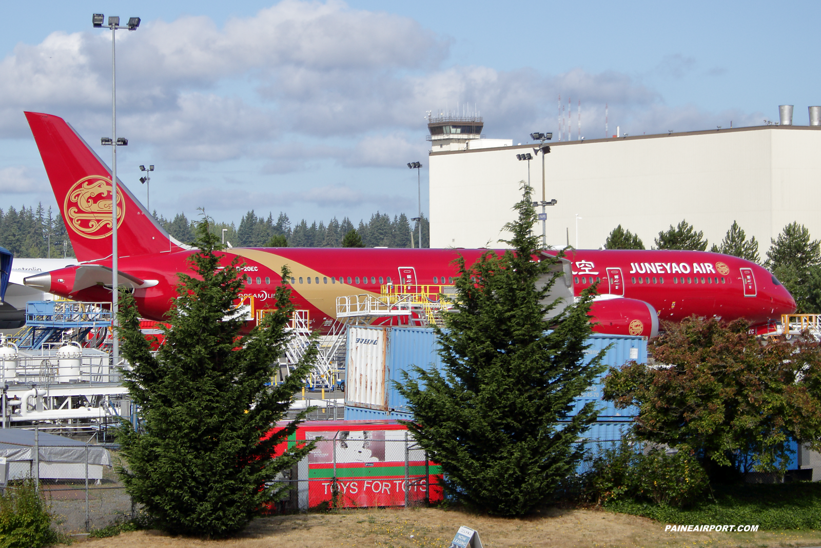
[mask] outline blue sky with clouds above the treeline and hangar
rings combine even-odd
[[[759,125],[779,104],[806,125],[821,104],[819,2],[5,2],[0,208],[56,206],[24,111],[111,158],[111,31],[92,13],[142,20],[117,31],[117,175],[165,217],[415,217],[427,111],[524,144],[559,138],[560,95],[571,139],[605,135],[605,104],[628,135]]]

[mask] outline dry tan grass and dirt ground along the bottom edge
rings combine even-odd
[[[338,514],[296,514],[258,518],[241,537],[224,541],[171,537],[153,531],[122,533],[118,537],[87,539],[81,548],[447,548],[456,530],[465,525],[479,532],[486,548],[550,546],[604,548],[642,546],[690,548],[699,546],[821,546],[821,532],[664,532],[664,524],[625,514],[595,510],[552,509],[529,518],[489,518],[461,510],[360,509]]]

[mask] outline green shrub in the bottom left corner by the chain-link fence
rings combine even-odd
[[[59,540],[52,516],[34,486],[26,479],[9,486],[0,497],[0,548],[39,548]]]

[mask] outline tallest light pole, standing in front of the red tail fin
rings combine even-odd
[[[94,13],[91,24],[95,29],[103,28],[103,14]],[[101,144],[111,145],[111,327],[112,327],[112,365],[116,366],[120,358],[120,340],[117,338],[117,297],[119,280],[117,279],[117,147],[128,144],[125,137],[117,137],[117,30],[136,30],[140,26],[140,17],[130,17],[126,26],[120,26],[120,18],[108,17],[108,28],[111,29],[111,137],[100,139]]]

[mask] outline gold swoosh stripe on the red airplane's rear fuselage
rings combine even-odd
[[[232,248],[227,251],[234,253],[239,257],[247,258],[255,263],[259,263],[264,267],[268,267],[277,274],[282,272],[282,267],[284,265],[287,265],[288,269],[291,270],[291,275],[295,277],[328,276],[318,270],[306,267],[302,263],[297,263],[293,259],[284,258],[276,253],[268,253],[267,251],[259,251],[259,249],[245,248]],[[340,284],[339,281],[337,281],[336,284],[304,284],[300,285],[299,288],[294,285],[291,285],[291,287],[296,291],[296,293],[299,293],[302,297],[307,299],[310,304],[314,305],[316,308],[319,308],[319,310],[328,314],[330,317],[337,317],[337,297],[347,297],[351,295],[379,295],[378,293],[374,293],[374,291],[364,290],[356,285]]]

